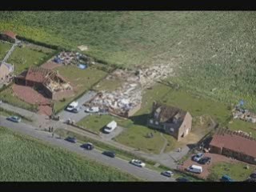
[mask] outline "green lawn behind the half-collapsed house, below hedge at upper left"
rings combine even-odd
[[[38,66],[45,62],[50,52],[31,49],[31,47],[15,47],[7,62],[14,64],[14,74],[20,74],[30,66]]]

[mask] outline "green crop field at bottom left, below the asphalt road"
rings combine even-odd
[[[0,138],[2,182],[138,181],[130,174],[5,128],[0,128]]]

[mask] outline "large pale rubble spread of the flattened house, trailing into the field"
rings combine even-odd
[[[140,70],[115,70],[106,79],[124,82],[114,91],[102,91],[86,106],[98,106],[114,114],[126,114],[142,103],[142,90],[153,86],[154,82],[167,78],[173,72],[170,65],[153,66]]]

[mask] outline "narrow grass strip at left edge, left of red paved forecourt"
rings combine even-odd
[[[10,103],[13,106],[18,106],[20,108],[23,108],[25,110],[31,110],[31,111],[38,110],[38,106],[31,105],[30,103],[24,102],[20,98],[18,98],[14,94],[14,91],[12,90],[11,86],[7,87],[6,89],[0,92],[0,100]]]

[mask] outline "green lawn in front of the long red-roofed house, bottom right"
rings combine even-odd
[[[219,181],[220,178],[224,174],[230,176],[230,178],[234,179],[237,182],[245,181],[246,178],[250,176],[255,170],[254,166],[250,166],[249,170],[246,169],[245,163],[227,163],[227,162],[219,162],[214,164],[210,168],[211,172],[209,177],[214,181]]]

